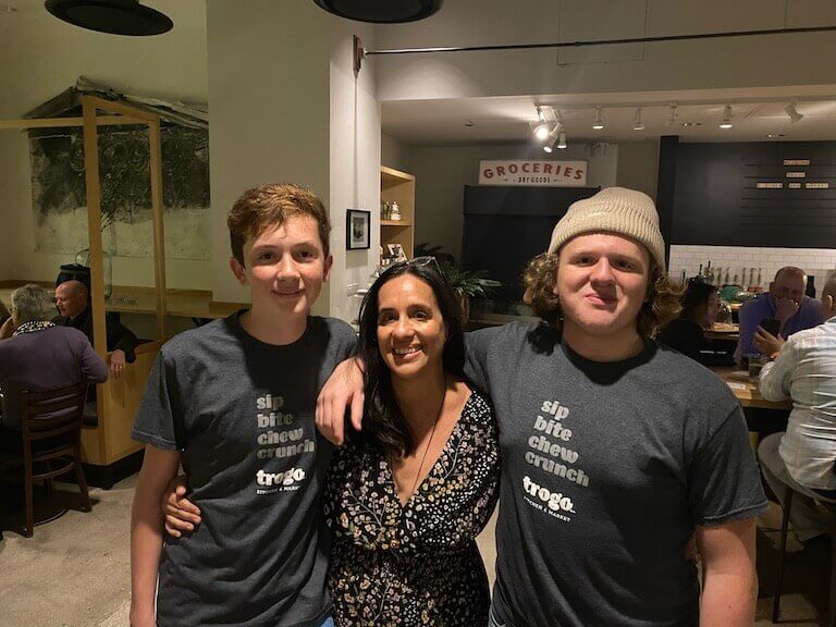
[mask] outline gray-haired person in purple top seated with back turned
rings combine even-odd
[[[0,390],[3,393],[0,447],[20,445],[20,392],[59,390],[82,381],[101,383],[108,367],[76,329],[50,322],[52,298],[40,285],[24,285],[12,293],[16,330],[0,342]]]

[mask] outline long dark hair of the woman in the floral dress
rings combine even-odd
[[[360,337],[356,354],[366,366],[364,385],[366,392],[366,416],[364,438],[386,455],[410,455],[415,442],[406,428],[403,414],[395,403],[392,391],[392,374],[378,346],[378,308],[380,290],[392,279],[411,274],[427,283],[435,295],[441,317],[446,328],[446,342],[442,354],[444,371],[462,377],[465,365],[465,345],[462,331],[462,310],[458,297],[434,266],[396,263],[383,271],[369,287],[360,306]]]

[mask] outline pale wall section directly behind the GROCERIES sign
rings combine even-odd
[[[570,144],[556,150],[552,159],[589,161],[587,184],[610,187],[616,184],[620,148],[600,144]],[[543,159],[545,153],[532,145],[440,146],[411,148],[415,174],[415,243],[429,242],[460,259],[464,226],[465,185],[478,185],[482,159]]]

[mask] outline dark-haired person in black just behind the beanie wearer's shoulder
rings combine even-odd
[[[703,366],[732,365],[732,356],[705,337],[717,319],[717,288],[700,280],[690,280],[679,318],[659,332],[660,344],[669,346]]]

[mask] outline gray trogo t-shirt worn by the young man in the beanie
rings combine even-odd
[[[694,526],[766,505],[727,386],[652,341],[589,361],[545,324],[477,331],[466,348],[500,427],[499,622],[697,625]]]

